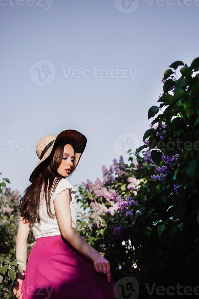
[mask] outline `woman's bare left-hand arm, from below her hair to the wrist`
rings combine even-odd
[[[31,229],[31,224],[27,219],[23,219],[20,216],[18,232],[16,236],[16,258],[23,260],[22,262],[17,262],[17,264],[22,265],[23,275],[26,270],[26,260],[27,260],[27,238]],[[23,279],[23,276],[18,271],[18,278]]]

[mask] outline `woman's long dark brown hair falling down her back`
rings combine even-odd
[[[24,195],[20,199],[21,216],[24,219],[27,219],[27,221],[31,222],[31,224],[33,223],[40,224],[39,212],[40,212],[40,199],[41,199],[40,193],[41,193],[42,186],[45,192],[47,214],[50,218],[54,218],[56,216],[51,211],[51,202],[50,202],[51,189],[52,192],[54,192],[55,188],[58,185],[58,182],[62,178],[65,178],[64,176],[58,173],[57,168],[62,162],[64,147],[66,144],[70,144],[73,147],[71,142],[66,142],[66,141],[59,142],[58,145],[55,147],[55,149],[52,150],[51,154],[45,160],[45,164],[43,165],[43,168],[40,171],[40,173],[34,179],[32,184],[25,189]],[[75,159],[73,162],[70,175],[72,175],[74,171],[75,171]],[[54,186],[53,186],[53,182],[54,182]]]

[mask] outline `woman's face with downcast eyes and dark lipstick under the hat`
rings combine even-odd
[[[66,144],[64,147],[63,159],[59,165],[57,171],[60,175],[67,177],[72,170],[72,166],[75,159],[75,153],[70,144]]]

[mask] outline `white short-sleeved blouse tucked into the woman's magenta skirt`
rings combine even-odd
[[[71,183],[69,183],[68,180],[65,178],[62,178],[58,182],[58,185],[57,185],[55,191],[53,193],[51,193],[52,194],[51,202],[50,202],[51,211],[53,214],[55,214],[53,201],[59,193],[61,193],[63,190],[66,190],[66,189],[70,190],[70,194],[72,197],[72,201],[70,202],[70,208],[71,208],[72,227],[75,229],[76,222],[77,222],[77,204],[75,201],[75,193],[77,191],[71,185]],[[44,189],[42,189],[42,191],[44,191]],[[43,195],[43,192],[41,192],[41,196],[40,196],[40,200],[41,200],[40,201],[40,221],[41,221],[41,223],[40,223],[40,225],[38,225],[38,223],[32,224],[33,235],[34,235],[35,240],[37,238],[41,238],[41,237],[61,235],[61,230],[59,229],[57,218],[56,218],[56,216],[54,219],[49,218],[49,216],[47,214],[45,194],[44,194],[43,199],[42,199],[42,195]],[[42,203],[43,203],[43,205],[42,205]]]

